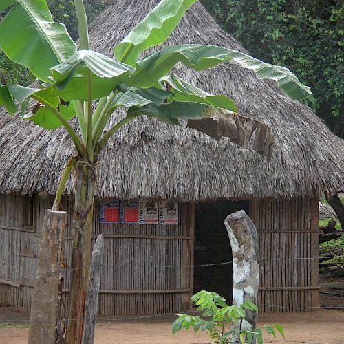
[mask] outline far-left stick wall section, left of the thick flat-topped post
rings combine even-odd
[[[22,195],[0,195],[0,304],[30,310],[39,241],[35,229],[23,223],[24,200]],[[40,202],[41,207],[50,206]],[[37,224],[41,207],[37,207]]]

